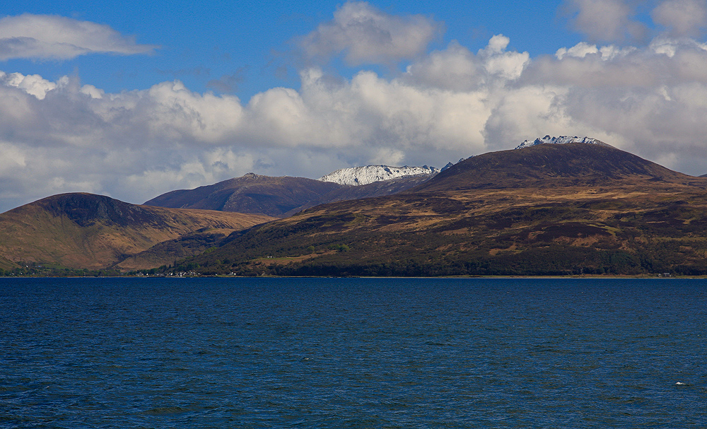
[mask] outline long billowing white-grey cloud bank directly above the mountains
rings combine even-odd
[[[75,77],[0,73],[0,209],[76,191],[141,203],[249,171],[320,177],[354,165],[439,167],[546,134],[591,136],[704,174],[707,44],[684,35],[694,28],[673,22],[645,45],[581,42],[537,58],[509,50],[503,35],[477,52],[450,42],[420,53],[418,44],[399,50],[415,59],[394,76],[363,68],[345,79],[307,66],[300,88],[247,102],[180,81],[106,93]]]

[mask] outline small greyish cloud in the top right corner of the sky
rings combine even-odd
[[[706,3],[705,0],[667,0],[653,9],[651,16],[672,36],[697,37],[707,24]]]

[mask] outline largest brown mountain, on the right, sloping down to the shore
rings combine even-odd
[[[707,179],[600,144],[464,160],[418,187],[231,234],[204,274],[707,274]],[[227,261],[227,262],[225,262]]]

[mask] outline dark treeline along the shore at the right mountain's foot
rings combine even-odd
[[[177,264],[168,271],[192,271],[206,276],[580,276],[580,275],[707,275],[707,266],[667,264],[645,254],[622,250],[597,250],[588,247],[550,246],[520,253],[458,255],[458,258],[431,259],[422,255],[395,261],[366,260],[351,250],[346,258],[315,261],[230,260],[204,261],[203,264]],[[464,258],[467,256],[467,258]]]

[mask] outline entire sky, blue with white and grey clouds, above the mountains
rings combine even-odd
[[[548,134],[707,173],[706,0],[427,3],[5,1],[0,211]]]

